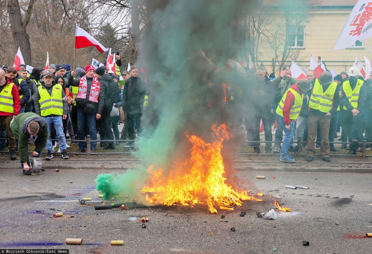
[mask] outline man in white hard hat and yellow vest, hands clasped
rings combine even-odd
[[[349,137],[350,152],[347,154],[356,154],[362,152],[357,148],[358,142],[363,141],[363,110],[365,110],[368,96],[368,87],[363,84],[363,80],[358,79],[359,70],[353,66],[347,71],[349,80],[342,84],[341,101],[343,103],[343,112],[341,113],[342,128],[346,137]]]

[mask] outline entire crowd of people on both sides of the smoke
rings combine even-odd
[[[121,66],[120,56],[116,58],[117,66]],[[8,146],[10,158],[15,160],[17,150],[25,175],[31,174],[28,144],[35,144],[32,157],[40,158],[45,149],[45,160],[51,160],[55,153],[68,159],[70,146],[66,139],[72,140],[70,144],[77,143],[78,152],[84,153],[84,140],[89,134],[90,151],[94,153],[97,133],[103,149],[115,149],[115,140],[119,139],[130,140],[125,147],[134,146],[131,140],[141,132],[148,88],[136,66],[122,74],[119,68],[114,73],[105,66],[70,68],[58,63],[49,69],[33,68],[31,73],[25,65],[0,69],[0,151]],[[280,154],[282,162],[295,162],[291,154],[305,147],[308,162],[313,160],[316,148],[320,148],[323,160],[330,162],[329,152],[340,151],[333,144],[340,130],[339,140],[345,142],[341,148],[349,149],[348,154],[362,151],[363,133],[367,142],[372,142],[372,75],[363,80],[358,69],[350,67],[334,77],[327,70],[315,78],[314,70],[308,70],[306,78],[298,80],[292,77],[288,65],[278,76],[269,75],[264,66],[246,68],[246,73],[249,84],[226,82],[217,92],[224,98],[222,121],[241,130],[245,119],[247,137],[243,145],[253,146],[254,153],[260,153],[261,123],[265,141],[270,142],[275,125],[273,150],[272,143],[266,142],[265,152]],[[209,104],[207,100],[206,107]],[[124,127],[120,136],[121,112]],[[295,145],[295,139],[302,140],[301,146]]]

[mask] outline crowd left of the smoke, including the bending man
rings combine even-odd
[[[121,66],[120,56],[116,56],[116,65]],[[135,65],[122,74],[119,68],[114,73],[105,66],[70,68],[58,63],[49,69],[33,68],[31,73],[25,65],[0,69],[0,151],[8,146],[12,160],[17,159],[18,151],[25,175],[31,175],[28,144],[35,144],[32,157],[40,158],[45,149],[45,160],[55,153],[68,159],[66,139],[77,143],[78,152],[84,153],[87,143],[83,140],[89,134],[90,152],[95,153],[97,133],[100,146],[112,150],[114,140],[134,140],[141,132],[143,108],[148,105],[147,84]],[[124,128],[119,136],[121,107]],[[125,147],[133,145],[133,141],[124,143]]]

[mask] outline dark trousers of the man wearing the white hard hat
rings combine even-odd
[[[351,111],[344,112],[344,123],[342,124],[342,127],[348,134],[349,141],[351,141],[350,151],[356,150],[358,142],[363,141],[363,123],[363,112],[360,112],[355,117],[353,117]]]

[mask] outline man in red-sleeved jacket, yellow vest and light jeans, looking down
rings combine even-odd
[[[294,123],[301,112],[304,94],[311,89],[311,83],[303,78],[297,84],[292,85],[283,95],[276,108],[278,124],[282,126],[285,137],[280,154],[281,162],[295,162],[288,154],[288,148],[294,135]]]

